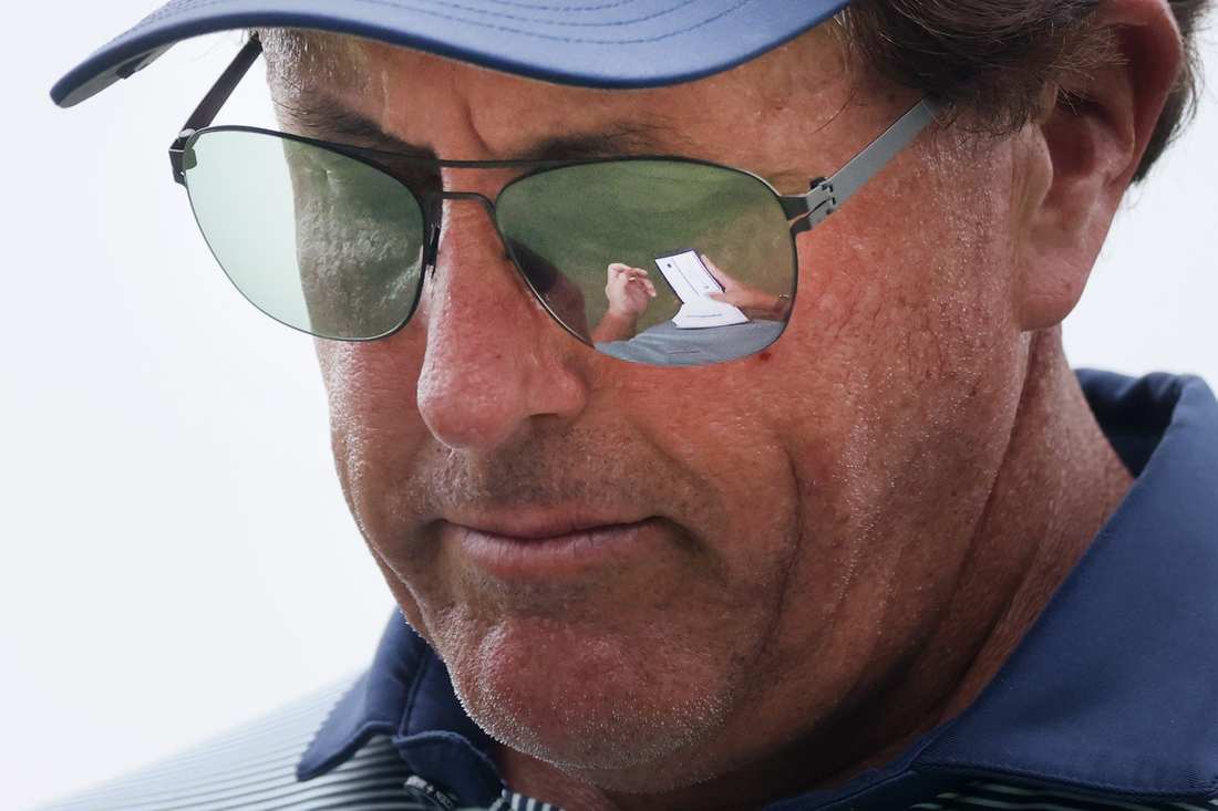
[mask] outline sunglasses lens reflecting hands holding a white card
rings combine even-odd
[[[496,212],[551,312],[608,354],[719,363],[760,352],[786,325],[790,229],[773,191],[744,172],[667,160],[570,166],[508,185]]]

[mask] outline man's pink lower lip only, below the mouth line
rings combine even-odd
[[[558,581],[624,561],[643,546],[646,521],[543,538],[519,538],[453,525],[463,556],[501,581]]]

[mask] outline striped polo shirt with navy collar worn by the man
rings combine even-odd
[[[1079,377],[1138,477],[1107,525],[963,712],[767,811],[1218,811],[1218,403],[1195,377]],[[48,811],[559,811],[492,748],[398,616],[353,682]]]

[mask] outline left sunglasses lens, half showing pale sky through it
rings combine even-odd
[[[208,246],[255,306],[333,339],[387,335],[418,300],[423,209],[381,169],[303,141],[208,130],[186,146]]]

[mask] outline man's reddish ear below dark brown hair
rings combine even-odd
[[[1019,320],[1055,326],[1074,308],[1180,67],[1167,0],[1107,0],[1095,24],[1112,51],[1056,90],[1021,150]]]

